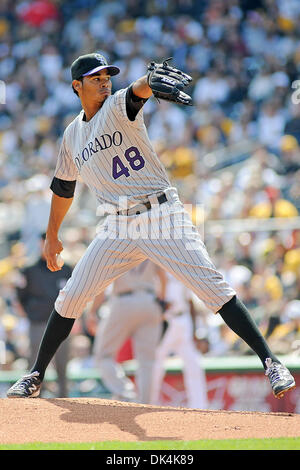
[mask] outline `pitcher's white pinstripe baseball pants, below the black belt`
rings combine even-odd
[[[213,312],[235,295],[172,189],[168,201],[150,211],[107,216],[60,291],[56,311],[63,317],[80,317],[89,301],[146,258],[183,282]]]

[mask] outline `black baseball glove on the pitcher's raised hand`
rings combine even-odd
[[[150,62],[148,64],[147,80],[155,98],[171,101],[177,104],[192,106],[192,98],[183,89],[192,81],[192,77],[175,69],[168,64],[168,60],[162,64]]]

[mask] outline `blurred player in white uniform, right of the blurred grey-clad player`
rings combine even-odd
[[[189,408],[208,408],[205,371],[201,355],[194,343],[194,327],[191,315],[192,292],[171,275],[167,275],[166,301],[169,304],[164,317],[167,330],[156,350],[153,368],[151,404],[159,405],[160,392],[165,375],[164,363],[170,354],[183,361],[183,378]]]

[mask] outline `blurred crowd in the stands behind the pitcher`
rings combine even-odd
[[[28,322],[15,289],[20,269],[38,256],[60,140],[80,111],[69,67],[91,51],[120,67],[114,89],[144,75],[149,61],[168,57],[193,77],[187,90],[193,107],[147,102],[149,136],[182,201],[192,205],[195,223],[204,221],[212,259],[273,350],[297,352],[300,104],[293,84],[300,78],[300,2],[1,0],[0,341],[6,360],[0,368],[28,366]],[[96,202],[79,183],[61,231],[69,264],[92,240],[96,224]],[[195,304],[199,344],[208,345],[204,355],[249,354]],[[90,358],[93,342],[84,317],[72,336],[70,367],[76,369]]]

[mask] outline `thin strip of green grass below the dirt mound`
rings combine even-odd
[[[300,438],[0,445],[0,450],[300,450]]]

